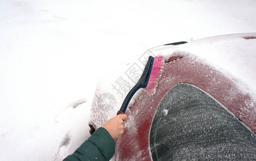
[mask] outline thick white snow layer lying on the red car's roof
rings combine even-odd
[[[183,45],[150,49],[165,59],[175,55],[200,58],[233,79],[241,90],[256,98],[256,33],[213,36]]]

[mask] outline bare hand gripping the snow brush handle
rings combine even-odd
[[[114,116],[114,118],[106,121],[102,127],[108,131],[108,133],[112,136],[113,139],[116,139],[123,134],[124,121],[126,120],[126,114],[119,114]]]

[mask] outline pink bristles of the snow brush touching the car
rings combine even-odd
[[[154,57],[153,67],[151,69],[148,85],[145,88],[148,94],[153,95],[156,93],[156,87],[158,85],[158,80],[162,76],[163,67],[164,57],[162,55],[157,55],[156,57]]]

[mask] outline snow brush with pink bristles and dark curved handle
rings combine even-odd
[[[148,57],[148,62],[141,75],[141,78],[132,88],[132,90],[130,90],[126,98],[124,98],[123,104],[116,115],[124,114],[126,112],[126,108],[130,100],[139,89],[144,88],[150,95],[156,93],[156,87],[158,85],[158,80],[162,76],[163,67],[164,57],[162,55],[157,55],[155,58],[153,56]]]

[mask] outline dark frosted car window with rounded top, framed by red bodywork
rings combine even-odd
[[[255,134],[202,90],[173,87],[150,130],[153,160],[255,159]]]

